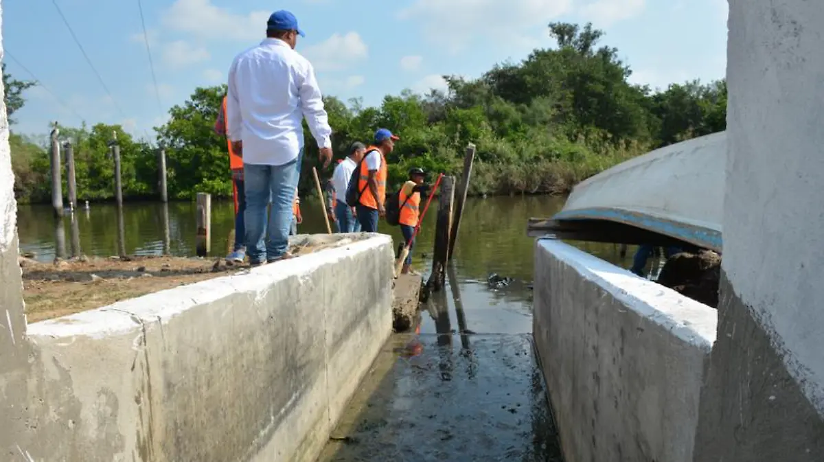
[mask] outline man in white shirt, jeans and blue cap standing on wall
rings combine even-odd
[[[304,34],[295,16],[274,12],[266,39],[238,54],[229,68],[227,131],[243,157],[246,252],[253,266],[292,256],[288,235],[303,158],[302,119],[320,147],[323,166],[332,160],[329,118],[311,63],[295,51],[297,35]]]

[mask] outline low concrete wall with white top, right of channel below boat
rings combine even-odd
[[[534,306],[566,460],[692,460],[715,310],[558,240]]]

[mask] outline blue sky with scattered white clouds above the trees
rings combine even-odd
[[[404,88],[441,87],[442,74],[479,77],[494,63],[521,61],[552,44],[550,21],[592,21],[605,30],[602,43],[619,49],[634,82],[706,82],[726,68],[725,0],[142,1],[157,92],[138,0],[3,2],[7,53],[60,100],[43,87],[30,90],[16,131],[40,135],[49,121],[79,125],[82,118],[124,124],[138,137],[153,134],[195,86],[223,82],[235,54],[259,42],[269,13],[281,8],[295,13],[307,34],[297,49],[314,63],[321,90],[344,100],[363,97],[366,105]],[[30,78],[8,55],[4,60],[12,75]]]

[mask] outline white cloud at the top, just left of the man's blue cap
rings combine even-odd
[[[168,29],[205,40],[261,40],[271,13],[255,11],[243,15],[216,7],[210,0],[176,0],[162,13],[161,22]]]

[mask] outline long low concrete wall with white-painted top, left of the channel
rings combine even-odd
[[[374,235],[31,324],[26,399],[2,447],[78,462],[314,460],[391,334],[391,279],[391,239]]]

